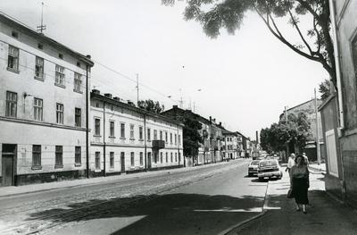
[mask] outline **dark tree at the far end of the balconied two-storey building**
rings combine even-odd
[[[184,155],[198,155],[198,147],[203,143],[199,130],[202,129],[201,122],[198,122],[192,117],[187,116],[184,121],[183,128],[183,144]]]

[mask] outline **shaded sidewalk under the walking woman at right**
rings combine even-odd
[[[310,175],[307,214],[295,211],[294,199],[286,198],[289,178],[271,180],[266,213],[228,234],[357,234],[357,212],[333,200],[325,191],[324,175]]]

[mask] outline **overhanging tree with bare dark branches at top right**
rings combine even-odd
[[[175,0],[162,0],[175,4]],[[208,37],[216,38],[220,29],[234,34],[243,23],[245,13],[258,13],[274,37],[298,55],[320,63],[336,87],[335,57],[330,37],[328,0],[187,0],[185,20],[199,21]],[[311,16],[311,29],[301,29],[300,18]],[[289,42],[278,28],[277,19],[295,28],[300,43]]]

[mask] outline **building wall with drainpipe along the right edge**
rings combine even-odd
[[[342,97],[330,97],[320,108],[326,117],[326,188],[357,206],[357,0],[331,0],[330,3],[336,34],[336,73],[337,80],[341,81]],[[342,114],[337,115],[338,110],[343,111]]]

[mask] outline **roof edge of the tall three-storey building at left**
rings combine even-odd
[[[12,24],[15,27],[17,27],[17,28],[23,30],[24,32],[28,33],[30,36],[32,36],[34,38],[37,38],[41,42],[46,42],[46,43],[50,44],[51,46],[54,46],[55,48],[64,50],[67,53],[69,53],[69,54],[71,54],[71,55],[73,55],[75,57],[78,57],[80,59],[80,61],[82,61],[84,63],[87,63],[91,67],[95,64],[93,61],[90,60],[90,56],[89,55],[82,55],[82,54],[72,50],[68,46],[64,46],[61,43],[55,41],[53,38],[48,38],[44,34],[38,33],[36,30],[29,28],[29,26],[25,25],[21,21],[17,21],[15,19],[13,19],[11,16],[6,15],[6,14],[4,14],[2,12],[0,12],[0,21],[3,21],[5,23],[7,23],[7,24]]]

